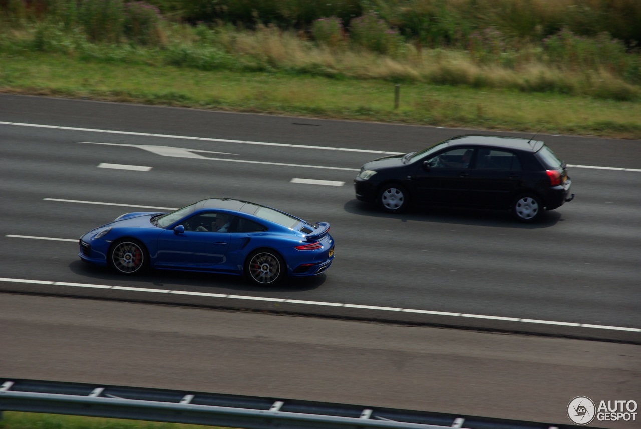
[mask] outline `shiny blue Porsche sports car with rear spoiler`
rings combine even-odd
[[[230,198],[202,200],[171,213],[137,212],[80,238],[79,257],[134,275],[145,268],[246,275],[273,285],[317,275],[334,258],[329,223],[306,222]]]

